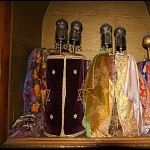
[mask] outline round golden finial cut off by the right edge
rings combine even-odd
[[[145,35],[142,41],[143,47],[147,50],[147,58],[150,58],[150,35]]]

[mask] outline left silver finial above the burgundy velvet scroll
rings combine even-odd
[[[68,42],[68,22],[63,18],[56,21],[55,41],[59,44],[61,53],[62,45]]]

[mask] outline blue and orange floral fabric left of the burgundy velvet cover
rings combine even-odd
[[[34,49],[28,58],[24,82],[24,112],[44,111],[46,97],[46,49]]]

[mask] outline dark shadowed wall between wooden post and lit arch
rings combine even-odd
[[[28,57],[41,47],[43,17],[49,1],[14,1],[11,58],[10,126],[23,113],[23,84]]]

